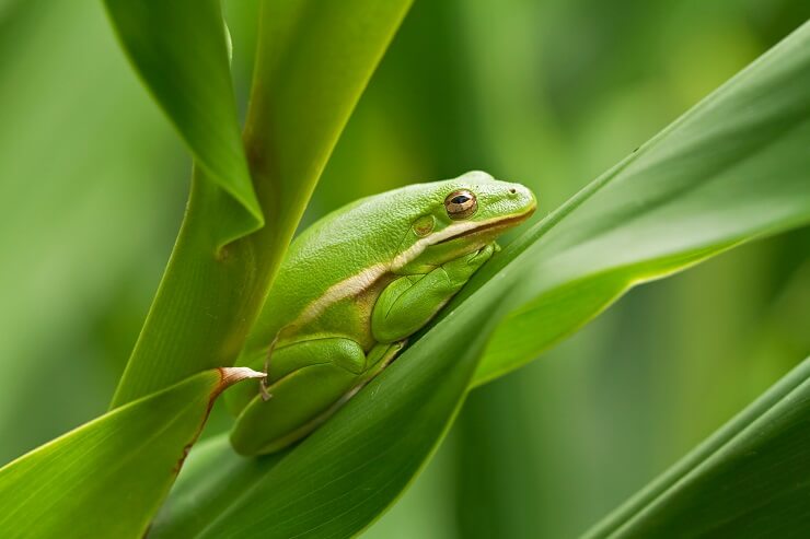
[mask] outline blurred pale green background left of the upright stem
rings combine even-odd
[[[0,13],[7,462],[106,409],[169,256],[188,165],[99,2]]]

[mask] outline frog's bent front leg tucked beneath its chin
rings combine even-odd
[[[489,244],[426,274],[394,280],[380,294],[371,313],[374,339],[394,342],[415,333],[489,260],[495,249],[495,244]]]

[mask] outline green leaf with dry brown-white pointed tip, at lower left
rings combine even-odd
[[[261,373],[206,371],[0,469],[0,535],[142,537],[217,396]]]

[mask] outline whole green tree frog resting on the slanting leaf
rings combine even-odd
[[[236,452],[279,450],[326,421],[535,207],[524,186],[471,172],[363,198],[301,233],[240,358],[267,378],[228,396]]]

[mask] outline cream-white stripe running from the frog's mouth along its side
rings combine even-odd
[[[315,318],[321,316],[321,313],[323,313],[326,307],[328,307],[333,303],[359,294],[360,292],[374,284],[378,279],[380,279],[389,271],[397,270],[404,267],[406,263],[421,255],[429,246],[451,238],[453,236],[458,236],[459,234],[463,234],[473,229],[485,227],[491,223],[496,223],[504,219],[500,218],[478,222],[460,221],[458,223],[451,224],[443,231],[417,239],[414,245],[396,255],[394,259],[390,262],[375,263],[374,266],[360,271],[356,276],[351,276],[329,286],[321,297],[310,303],[306,308],[301,312],[301,314],[298,316],[296,321],[292,323],[292,325],[300,326],[314,320]]]

